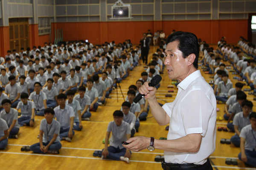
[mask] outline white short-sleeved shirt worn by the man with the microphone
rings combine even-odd
[[[200,70],[187,76],[178,84],[175,100],[163,105],[170,117],[168,140],[188,134],[201,134],[197,153],[164,152],[167,163],[204,164],[215,150],[216,98],[212,87],[204,80]]]

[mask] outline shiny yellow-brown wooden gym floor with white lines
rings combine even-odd
[[[149,58],[152,57],[152,53],[155,52],[157,47],[151,46]],[[199,67],[201,69],[201,66]],[[202,70],[202,69],[201,69]],[[122,93],[124,97],[127,95],[128,86],[135,84],[140,78],[140,73],[144,71],[143,66],[137,66],[133,71],[130,72],[130,76],[122,81],[120,84]],[[206,75],[202,73],[207,82],[211,80],[212,75]],[[157,90],[158,101],[162,104],[166,102],[172,102],[177,94],[177,88],[174,88],[172,93],[172,98],[166,98],[165,94],[168,93],[167,86],[172,84],[172,80],[169,80],[166,70],[164,74],[161,75],[163,80],[161,81],[161,86]],[[233,82],[233,86],[237,80],[234,80],[230,73],[230,80]],[[248,88],[245,86],[244,88]],[[35,154],[31,151],[21,152],[20,148],[24,145],[32,145],[39,142],[37,135],[39,133],[40,121],[44,117],[35,117],[35,127],[21,127],[18,133],[18,139],[9,139],[9,144],[6,150],[0,151],[0,169],[18,169],[18,170],[73,170],[73,169],[86,169],[86,170],[161,170],[161,165],[159,162],[155,162],[154,158],[157,155],[162,155],[162,150],[154,150],[150,152],[148,150],[143,150],[141,152],[132,153],[131,162],[127,164],[123,161],[111,161],[102,160],[99,157],[93,157],[94,150],[102,150],[104,144],[102,144],[102,139],[105,138],[108,122],[113,121],[113,112],[121,108],[121,104],[124,101],[120,89],[118,88],[118,94],[116,95],[116,90],[111,93],[111,99],[108,99],[106,106],[99,106],[97,112],[92,112],[90,121],[83,121],[83,129],[75,132],[72,142],[61,141],[62,148],[60,154]],[[117,101],[118,97],[118,101]],[[247,98],[253,101],[253,95],[248,95]],[[256,103],[253,101],[253,104]],[[220,109],[217,112],[217,116],[224,114],[224,104],[217,104]],[[253,107],[253,111],[256,111]],[[227,121],[217,121],[216,127],[225,127]],[[157,122],[151,115],[148,114],[147,121],[142,121],[140,123],[139,133],[135,136],[154,136],[155,138],[166,137],[167,132],[165,126],[159,126]],[[212,166],[215,170],[253,170],[253,167],[245,167],[244,163],[238,160],[239,165],[227,165],[225,164],[225,159],[236,158],[240,152],[239,148],[236,148],[233,144],[220,144],[221,138],[230,138],[233,133],[230,132],[219,132],[217,131],[216,137],[216,150],[210,156]]]

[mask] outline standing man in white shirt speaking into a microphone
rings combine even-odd
[[[175,32],[166,42],[164,64],[168,76],[180,81],[175,101],[160,107],[156,88],[148,86],[148,82],[139,92],[148,100],[157,123],[170,124],[167,140],[138,136],[123,146],[132,151],[164,150],[164,170],[212,170],[208,158],[215,150],[216,99],[212,87],[197,70],[198,39],[189,32]]]

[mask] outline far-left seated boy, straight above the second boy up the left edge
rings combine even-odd
[[[9,99],[12,102],[12,107],[17,107],[20,98],[21,87],[16,84],[16,78],[14,75],[9,77],[10,83],[6,85],[5,93],[9,95]]]

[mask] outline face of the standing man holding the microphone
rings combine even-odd
[[[173,41],[168,43],[166,46],[166,59],[164,64],[168,71],[168,77],[170,79],[178,79],[182,81],[188,76],[189,72],[189,62],[188,58],[183,58],[182,52],[178,49],[178,41]]]

